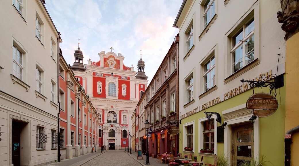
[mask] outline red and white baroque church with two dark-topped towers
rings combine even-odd
[[[133,65],[123,64],[124,56],[111,51],[98,53],[99,59],[83,64],[83,53],[78,46],[74,52],[75,62],[71,66],[89,100],[96,109],[99,122],[99,146],[106,149],[125,149],[132,132],[131,116],[147,89],[144,61],[138,61],[138,71]]]

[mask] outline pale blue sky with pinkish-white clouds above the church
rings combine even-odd
[[[148,84],[160,66],[174,37],[173,27],[183,0],[46,0],[48,10],[58,32],[60,48],[70,65],[74,50],[83,51],[83,63],[99,61],[98,53],[111,51],[122,54],[123,64],[135,67],[145,62]]]

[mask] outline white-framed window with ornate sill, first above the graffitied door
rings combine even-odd
[[[23,80],[23,53],[13,45],[13,75]]]

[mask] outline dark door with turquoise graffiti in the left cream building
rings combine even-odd
[[[13,165],[21,165],[21,124],[19,122],[13,121],[13,130],[12,130],[12,160]]]

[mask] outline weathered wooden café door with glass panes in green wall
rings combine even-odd
[[[244,160],[250,160],[254,156],[253,125],[245,123],[232,127],[231,156],[234,166],[239,166]]]

